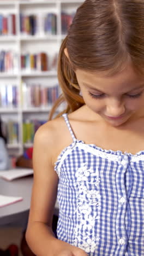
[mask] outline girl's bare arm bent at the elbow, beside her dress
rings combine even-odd
[[[58,184],[57,173],[53,170],[55,137],[51,125],[46,124],[34,138],[34,184],[26,239],[37,256],[85,256],[81,249],[58,240],[52,232]]]

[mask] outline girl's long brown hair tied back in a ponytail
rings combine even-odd
[[[69,59],[64,54],[65,48]],[[63,101],[67,102],[65,113],[85,104],[76,69],[113,75],[128,63],[143,74],[144,1],[86,0],[77,9],[59,51],[58,81],[62,95],[53,106],[50,119]]]

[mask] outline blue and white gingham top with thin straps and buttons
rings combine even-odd
[[[89,256],[144,255],[144,151],[103,150],[75,138],[58,156],[57,235]]]

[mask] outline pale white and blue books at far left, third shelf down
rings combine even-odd
[[[0,107],[15,108],[18,105],[17,85],[0,85]]]

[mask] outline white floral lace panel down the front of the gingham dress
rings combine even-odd
[[[93,253],[99,241],[95,237],[95,222],[98,221],[99,200],[99,172],[87,168],[83,164],[75,173],[77,187],[77,224],[73,245],[87,253]],[[90,188],[91,189],[90,189]]]

